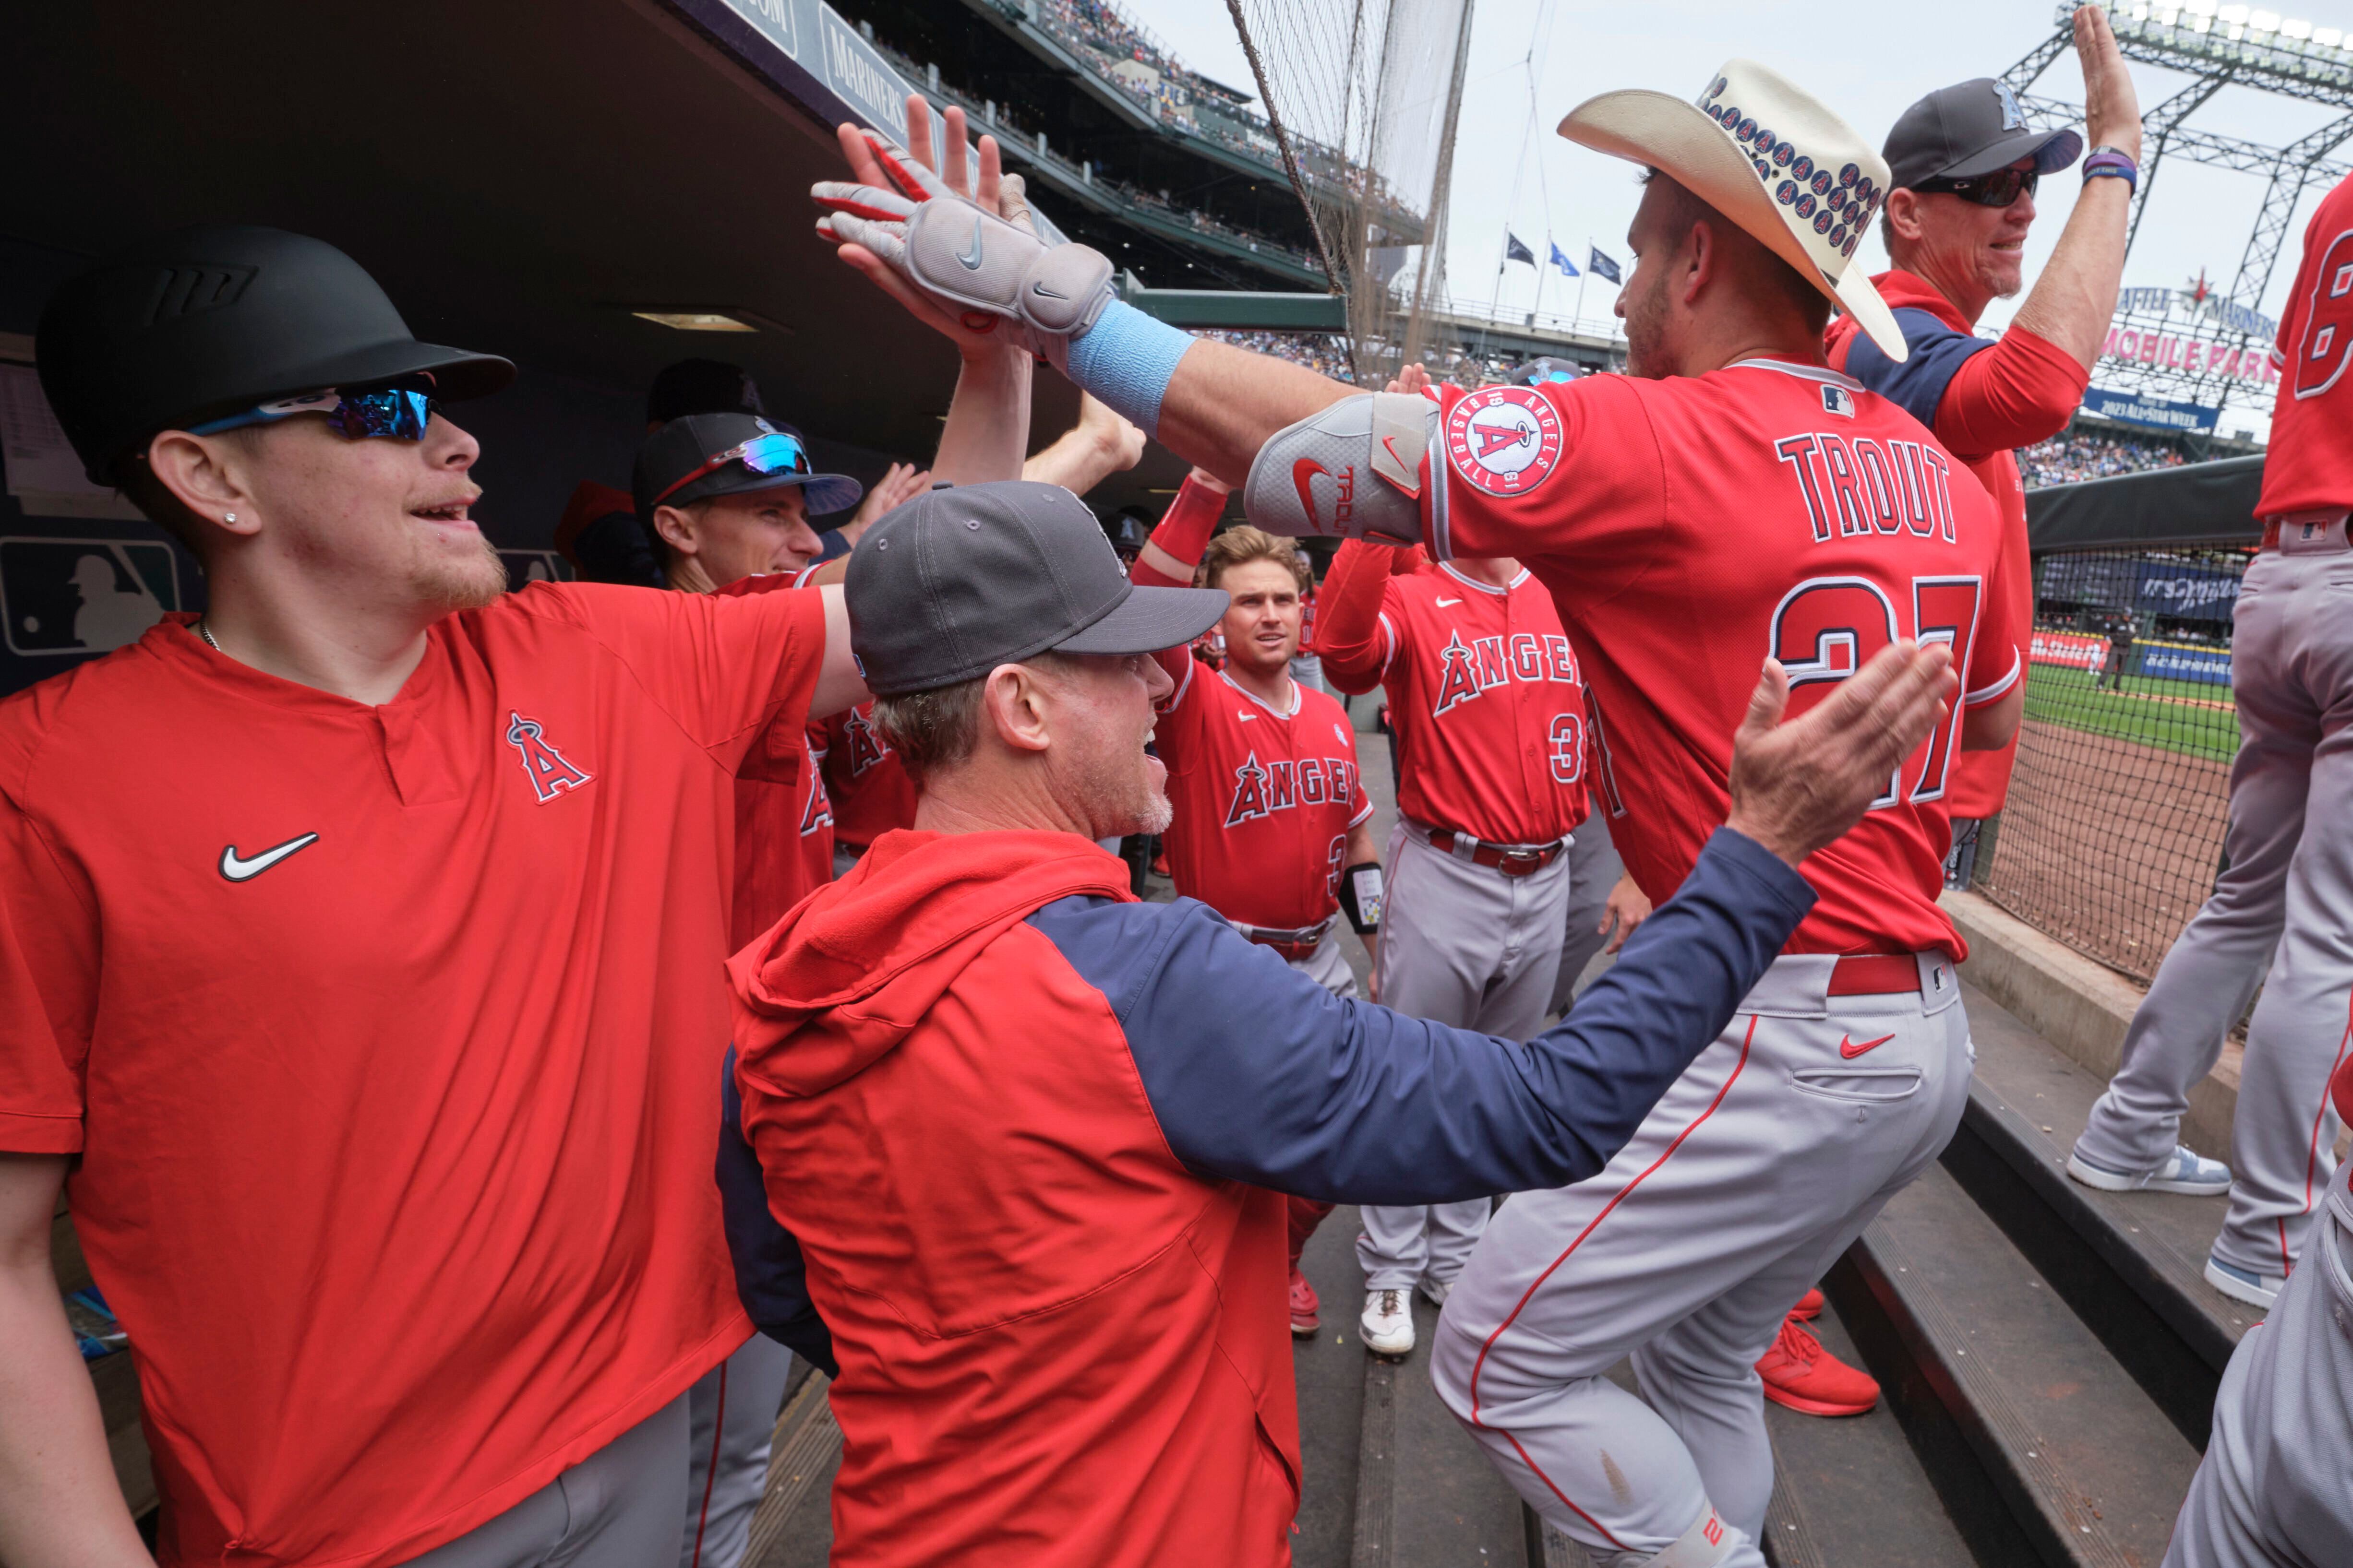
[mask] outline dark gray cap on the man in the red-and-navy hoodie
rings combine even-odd
[[[1153,654],[1217,625],[1221,588],[1136,588],[1059,484],[941,487],[849,552],[849,651],[880,696],[979,679],[1035,654]]]

